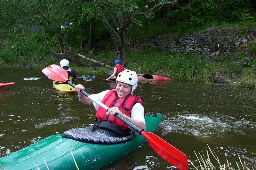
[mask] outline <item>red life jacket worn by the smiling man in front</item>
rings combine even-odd
[[[119,98],[115,89],[110,90],[104,96],[101,102],[108,107],[118,107],[124,115],[127,115],[129,117],[131,117],[131,110],[135,103],[140,102],[140,104],[142,105],[142,101],[138,96],[130,94],[126,97]],[[107,116],[106,112],[107,111],[104,108],[99,106],[96,113],[97,120],[107,120],[124,130],[128,130],[129,132],[131,131],[127,124],[125,124],[123,121],[121,121],[115,116]]]

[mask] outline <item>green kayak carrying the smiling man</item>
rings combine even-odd
[[[162,114],[146,116],[146,132],[154,133],[162,117]],[[135,134],[136,137],[119,144],[84,143],[70,138],[63,138],[63,134],[52,135],[0,158],[0,164],[5,170],[36,170],[37,167],[40,170],[46,170],[47,166],[50,170],[76,170],[75,159],[80,170],[99,169],[146,142],[145,137],[140,136],[138,133]]]

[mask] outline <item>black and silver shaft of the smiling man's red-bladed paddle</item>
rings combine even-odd
[[[66,81],[67,84],[71,85],[72,87],[75,88],[76,85],[74,85],[73,83],[71,83],[69,80]],[[101,103],[99,100],[92,98],[88,93],[84,92],[83,90],[80,91],[82,94],[84,94],[86,97],[88,97],[89,99],[91,99],[92,101],[94,101],[95,103],[97,103],[98,105],[100,105],[101,107],[103,107],[105,110],[108,111],[108,107],[106,105],[104,105],[103,103]],[[135,126],[134,124],[132,124],[131,122],[129,122],[128,120],[124,119],[121,115],[115,114],[115,116],[120,119],[121,121],[123,121],[124,123],[126,123],[128,126],[130,126],[132,129],[136,130],[137,132],[140,132],[144,129],[140,129],[137,126]]]

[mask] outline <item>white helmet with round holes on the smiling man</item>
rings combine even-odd
[[[121,73],[119,73],[116,78],[116,85],[117,85],[117,82],[119,81],[122,83],[126,83],[128,85],[132,85],[132,92],[136,89],[138,85],[137,74],[135,71],[131,71],[131,70],[124,70]]]

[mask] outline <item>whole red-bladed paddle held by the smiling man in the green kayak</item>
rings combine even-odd
[[[54,81],[66,82],[72,87],[75,87],[75,85],[68,80],[67,71],[63,70],[64,69],[60,66],[53,64],[44,68],[42,72]],[[106,105],[101,103],[99,100],[94,99],[91,95],[87,94],[83,90],[81,90],[81,93],[89,99],[91,99],[93,102],[103,107],[104,109],[109,109]],[[130,126],[132,129],[139,132],[140,135],[144,136],[148,140],[150,146],[156,151],[156,153],[160,155],[163,159],[165,159],[167,162],[171,163],[172,165],[176,166],[181,170],[188,169],[188,159],[184,153],[182,153],[181,151],[173,147],[171,144],[164,141],[162,138],[158,137],[156,134],[151,132],[145,132],[144,129],[138,128],[137,126],[135,126],[134,124],[132,124],[131,122],[124,119],[122,116],[118,114],[116,114],[115,116],[124,123],[126,123],[128,126]]]

